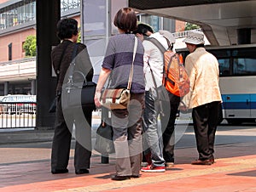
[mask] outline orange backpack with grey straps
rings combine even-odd
[[[163,86],[172,94],[183,97],[189,93],[189,76],[183,65],[183,57],[172,50],[164,48],[155,38],[148,38],[150,42],[164,54]],[[166,39],[167,40],[167,39]],[[170,42],[167,40],[168,44]]]

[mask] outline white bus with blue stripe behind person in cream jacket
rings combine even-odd
[[[223,118],[230,124],[255,122],[256,44],[206,48],[219,63]],[[183,54],[183,59],[189,54],[187,49],[177,53]]]

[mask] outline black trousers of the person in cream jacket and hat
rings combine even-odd
[[[218,125],[219,101],[203,104],[192,110],[199,160],[213,159],[215,133]]]

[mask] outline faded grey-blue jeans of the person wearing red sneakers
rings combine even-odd
[[[150,91],[145,94],[145,110],[143,114],[143,139],[151,152],[152,164],[155,167],[165,167],[163,157],[163,140],[161,127],[158,127],[160,115],[159,104],[154,104],[154,96]],[[146,149],[144,149],[146,150]]]

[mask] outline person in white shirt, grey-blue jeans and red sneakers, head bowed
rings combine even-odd
[[[144,155],[148,165],[142,167],[142,172],[165,172],[163,157],[162,132],[158,125],[160,104],[157,102],[156,88],[162,85],[163,57],[160,50],[148,38],[154,37],[168,48],[166,39],[159,32],[154,33],[149,25],[138,24],[137,37],[143,41],[144,76],[145,76],[145,109],[143,113],[143,144]]]

